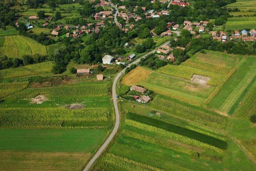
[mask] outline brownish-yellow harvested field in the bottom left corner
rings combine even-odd
[[[0,170],[82,170],[90,153],[0,151]]]

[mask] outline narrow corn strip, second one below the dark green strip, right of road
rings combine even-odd
[[[179,145],[170,143],[168,141],[159,140],[159,139],[147,136],[147,135],[142,135],[142,134],[139,134],[139,133],[136,133],[136,132],[129,131],[127,129],[124,129],[122,131],[122,134],[125,135],[125,136],[133,137],[133,138],[136,138],[136,139],[148,142],[148,143],[152,143],[152,144],[164,147],[164,148],[168,148],[168,149],[179,151],[179,152],[186,153],[186,154],[191,154],[193,152],[198,152],[196,150],[192,150],[192,149],[187,148],[187,147],[179,146]]]

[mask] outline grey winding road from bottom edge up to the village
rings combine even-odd
[[[163,45],[167,45],[169,43],[166,42]],[[134,60],[132,63],[130,63],[129,65],[127,65],[126,67],[130,67],[131,64],[137,64],[137,62],[140,62],[141,58],[144,58],[145,56],[147,56],[150,53],[154,53],[155,50],[150,51],[149,53],[141,56],[139,59]],[[99,148],[99,150],[97,151],[97,153],[93,156],[93,158],[89,161],[89,163],[86,165],[86,167],[84,168],[83,171],[87,171],[90,169],[90,167],[93,165],[93,163],[96,161],[96,159],[101,155],[102,151],[106,148],[106,146],[109,144],[109,142],[112,140],[112,138],[115,136],[118,128],[119,128],[119,124],[120,124],[120,116],[119,116],[119,110],[118,110],[118,106],[117,106],[117,99],[116,99],[116,83],[118,81],[118,79],[120,78],[120,76],[125,72],[125,69],[123,69],[121,72],[118,73],[118,75],[115,77],[113,86],[112,86],[112,99],[113,99],[113,103],[114,103],[114,108],[115,108],[115,116],[116,116],[116,122],[115,122],[115,127],[113,129],[113,131],[111,132],[111,134],[109,135],[109,137],[106,139],[106,141],[104,142],[104,144],[102,144],[102,146]]]

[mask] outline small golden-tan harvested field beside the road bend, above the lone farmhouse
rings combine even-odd
[[[134,84],[137,84],[140,80],[145,78],[146,76],[150,75],[152,71],[137,67],[133,70],[131,70],[122,80],[122,84],[125,84],[127,86],[132,86]]]

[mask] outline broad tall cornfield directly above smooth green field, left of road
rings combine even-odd
[[[66,128],[63,125],[82,128],[87,122],[112,119],[108,108],[7,108],[0,109],[0,113],[0,128]]]

